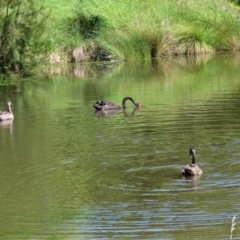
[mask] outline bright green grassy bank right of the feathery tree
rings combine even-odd
[[[117,59],[240,49],[240,11],[227,0],[46,1],[49,51],[95,42]]]

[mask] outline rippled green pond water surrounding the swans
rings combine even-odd
[[[48,71],[1,87],[1,239],[240,239],[239,55]]]

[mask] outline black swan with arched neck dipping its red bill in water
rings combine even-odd
[[[134,99],[132,97],[125,97],[122,100],[122,105],[117,105],[116,103],[113,102],[109,102],[109,101],[97,101],[93,107],[96,110],[110,110],[110,109],[122,109],[122,108],[126,108],[126,101],[130,100],[136,107],[140,107],[140,103],[135,102]]]

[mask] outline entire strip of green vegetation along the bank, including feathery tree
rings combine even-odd
[[[240,10],[235,3],[5,1],[0,5],[0,71],[28,72],[43,57],[62,63],[238,51]]]

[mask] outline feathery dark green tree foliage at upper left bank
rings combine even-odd
[[[0,2],[0,73],[26,73],[40,60],[48,13],[39,2]]]

